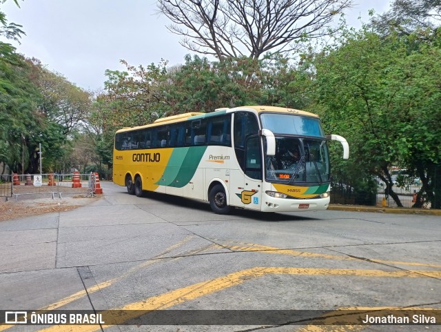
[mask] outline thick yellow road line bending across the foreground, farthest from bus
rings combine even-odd
[[[124,316],[112,316],[114,318],[112,324],[107,324],[103,328],[110,327],[115,324],[123,324],[127,320],[137,318],[144,313],[152,310],[167,309],[170,306],[181,304],[198,297],[209,295],[223,289],[227,289],[245,281],[253,280],[264,275],[287,274],[287,275],[342,275],[342,276],[360,276],[360,277],[441,277],[441,271],[381,271],[381,270],[354,270],[354,269],[332,269],[332,268],[285,268],[285,267],[255,267],[243,271],[229,273],[223,277],[217,277],[205,282],[198,282],[190,286],[169,291],[161,295],[149,297],[139,302],[133,302],[123,306],[119,310],[132,311]],[[138,311],[138,312],[136,312]],[[112,315],[111,311],[101,311],[106,317]],[[98,326],[79,326],[81,332],[98,331]],[[41,331],[72,331],[72,326],[51,326]]]

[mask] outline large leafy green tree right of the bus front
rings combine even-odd
[[[328,129],[347,137],[353,168],[380,177],[402,206],[389,169],[407,167],[436,206],[438,190],[427,177],[433,180],[441,162],[440,50],[427,45],[409,52],[414,38],[347,32],[314,62],[314,99]]]

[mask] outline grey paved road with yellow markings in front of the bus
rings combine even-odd
[[[213,321],[241,310],[243,317],[219,326],[150,326],[125,325],[123,316],[102,326],[0,331],[441,331],[439,320],[332,325],[341,309],[412,307],[429,317],[441,309],[440,216],[215,215],[206,203],[101,186],[104,197],[92,205],[0,222],[0,310],[123,309],[134,321],[155,309],[193,310],[198,318],[208,313],[197,310],[219,310]],[[270,310],[294,315],[273,322]],[[331,325],[288,324],[300,314]]]

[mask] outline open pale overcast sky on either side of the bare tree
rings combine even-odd
[[[353,1],[347,22],[357,28],[358,17],[368,21],[369,9],[382,13],[389,6],[387,0]],[[102,88],[106,69],[124,69],[120,59],[134,66],[158,64],[161,58],[176,65],[189,53],[165,28],[169,21],[156,13],[154,0],[19,0],[19,4],[20,8],[8,0],[0,7],[8,21],[21,24],[26,33],[21,45],[13,43],[18,52],[40,59],[81,88]]]

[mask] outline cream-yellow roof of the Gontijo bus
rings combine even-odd
[[[274,112],[274,113],[287,113],[287,114],[296,114],[296,115],[306,115],[309,117],[318,117],[318,115],[314,113],[305,112],[304,110],[296,110],[295,108],[284,108],[277,106],[239,106],[235,108],[217,108],[214,112],[211,113],[183,113],[178,115],[172,115],[170,117],[161,117],[154,121],[153,124],[146,124],[144,126],[136,126],[136,127],[124,127],[116,131],[116,133],[122,133],[125,131],[130,131],[134,129],[142,129],[142,128],[150,128],[161,126],[163,124],[173,124],[175,122],[185,121],[187,119],[203,119],[205,117],[213,117],[216,115],[226,114],[226,113],[234,113],[240,110],[245,111],[255,111],[257,113],[266,113],[266,112]]]

